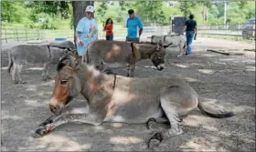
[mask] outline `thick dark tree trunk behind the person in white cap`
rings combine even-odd
[[[87,5],[94,6],[94,2],[93,1],[72,1],[75,45],[76,45],[76,38],[75,38],[76,27],[77,27],[80,19],[85,16],[85,9],[86,9]]]

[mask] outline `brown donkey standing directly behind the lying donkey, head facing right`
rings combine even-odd
[[[133,77],[135,64],[143,59],[151,59],[158,70],[165,66],[165,47],[162,41],[157,44],[135,44],[124,41],[97,40],[87,47],[87,63],[103,71],[106,68],[127,66],[126,76]]]

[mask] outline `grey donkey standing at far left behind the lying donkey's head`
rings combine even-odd
[[[8,50],[8,73],[15,84],[25,84],[22,80],[22,66],[43,64],[42,80],[50,79],[48,66],[59,62],[59,57],[66,54],[69,48],[75,48],[72,42],[49,43],[48,45],[18,45]],[[65,51],[66,50],[66,51]],[[11,71],[11,69],[13,70]]]

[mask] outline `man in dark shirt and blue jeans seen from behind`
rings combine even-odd
[[[197,35],[197,21],[194,20],[194,15],[189,15],[189,20],[186,21],[183,31],[186,32],[187,37],[186,55],[190,55],[193,36]]]

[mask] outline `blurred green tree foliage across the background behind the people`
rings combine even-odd
[[[170,16],[190,13],[195,15],[198,25],[217,25],[224,21],[224,3],[219,1],[1,1],[2,25],[43,29],[74,28],[77,20],[84,15],[84,6],[88,4],[95,5],[95,17],[99,24],[112,17],[115,24],[124,25],[130,8],[135,10],[144,24],[168,25]],[[204,9],[206,20],[203,19]],[[243,23],[255,17],[255,2],[229,1],[226,12],[231,24]]]

